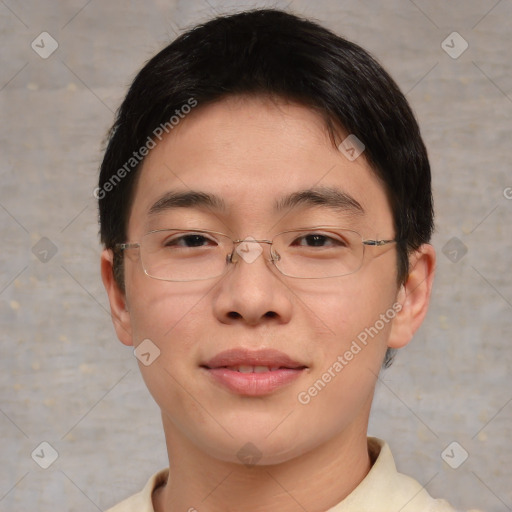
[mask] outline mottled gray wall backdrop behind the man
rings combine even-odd
[[[263,5],[370,50],[429,148],[433,302],[381,375],[370,433],[431,494],[512,510],[512,0],[0,0],[0,510],[104,510],[166,465],[159,411],[115,337],[100,281],[101,142],[158,49],[215,12]],[[47,59],[31,48],[43,31],[59,45]],[[441,46],[453,31],[469,44],[456,59]],[[59,454],[48,469],[35,462],[49,462],[48,449],[31,457],[42,441]],[[441,457],[453,441],[469,454],[457,469]],[[452,465],[462,448],[448,450]]]

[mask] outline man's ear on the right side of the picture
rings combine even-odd
[[[397,295],[402,308],[393,320],[388,347],[407,345],[423,322],[430,302],[435,264],[436,253],[430,244],[423,244],[409,257],[409,275]]]

